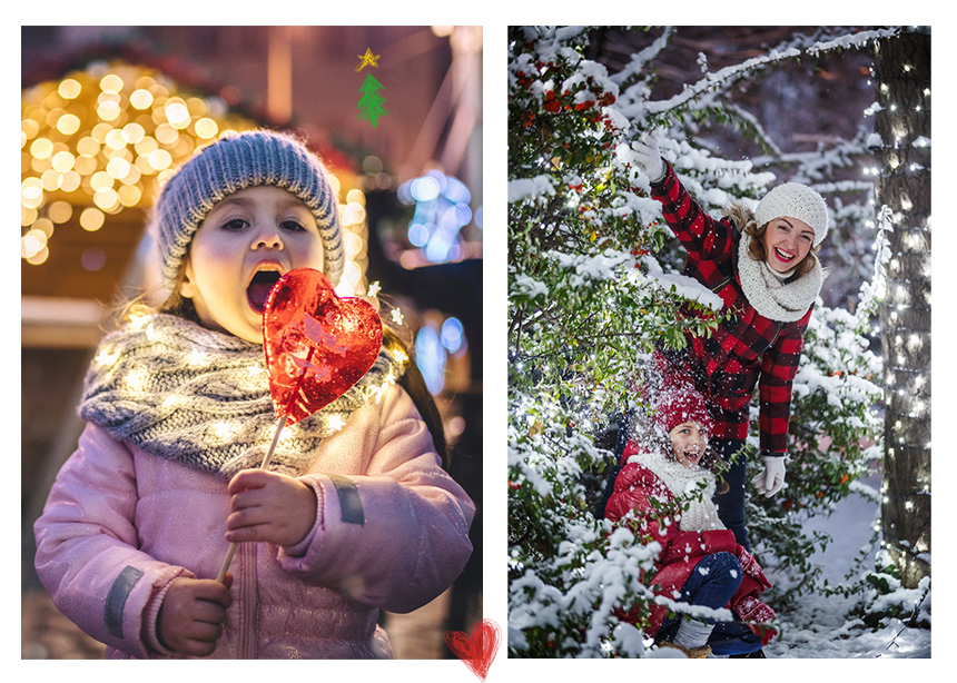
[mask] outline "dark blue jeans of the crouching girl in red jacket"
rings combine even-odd
[[[702,557],[691,576],[681,587],[678,602],[690,605],[702,605],[718,610],[728,604],[741,585],[741,563],[731,553],[713,553]],[[714,628],[708,639],[711,652],[717,655],[748,654],[761,649],[759,639],[747,624],[741,622],[713,622]],[[664,620],[658,630],[658,641],[672,641],[678,635],[681,617],[672,616]]]

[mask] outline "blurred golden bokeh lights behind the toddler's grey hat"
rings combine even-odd
[[[21,108],[20,256],[34,266],[48,260],[58,228],[96,231],[125,209],[148,208],[197,149],[257,126],[218,96],[181,92],[168,76],[120,61],[24,89]],[[334,175],[346,228],[343,296],[365,287],[368,228],[357,181]]]

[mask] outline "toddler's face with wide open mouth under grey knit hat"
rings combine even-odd
[[[323,269],[315,217],[282,188],[250,187],[217,204],[199,225],[180,293],[206,327],[262,342],[266,295],[295,268]]]

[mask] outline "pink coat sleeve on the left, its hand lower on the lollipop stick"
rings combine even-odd
[[[136,506],[132,455],[88,425],[33,526],[36,566],[57,608],[87,634],[148,657],[165,590],[193,574],[138,550]]]

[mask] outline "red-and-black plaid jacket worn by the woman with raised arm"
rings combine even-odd
[[[706,214],[670,166],[664,178],[652,184],[651,196],[661,202],[664,220],[688,251],[684,275],[716,291],[734,314],[709,338],[689,336],[690,354],[667,355],[687,365],[683,369],[698,378],[718,438],[748,436],[749,406],[757,385],[761,453],[783,455],[788,449],[791,388],[813,306],[793,323],[758,314],[741,289],[734,224]]]

